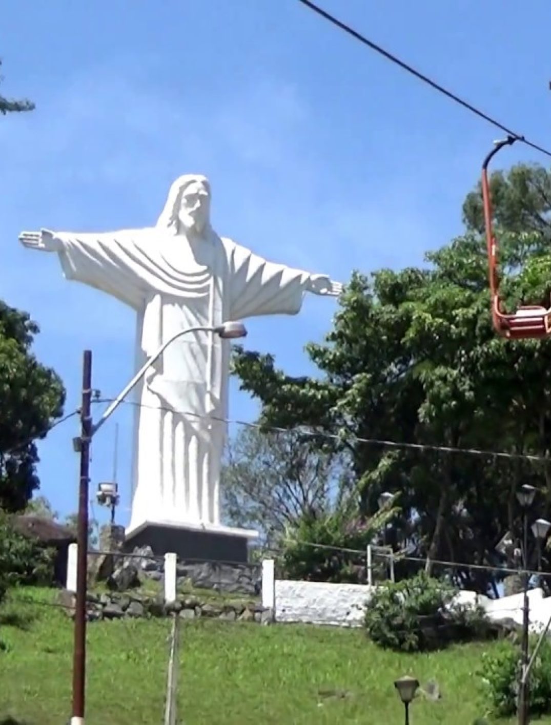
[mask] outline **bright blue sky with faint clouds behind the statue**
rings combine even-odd
[[[323,7],[519,133],[551,146],[547,0],[324,0]],[[270,259],[346,282],[352,269],[421,264],[461,231],[461,204],[500,133],[328,25],[297,0],[6,0],[2,91],[36,111],[0,118],[0,295],[41,326],[36,354],[62,376],[69,412],[82,351],[94,386],[132,373],[133,316],[62,278],[23,229],[150,225],[170,183],[205,173],[217,231]],[[545,162],[522,146],[501,161]],[[304,345],[335,304],[248,324],[250,349],[307,373]],[[231,388],[231,418],[257,407]],[[120,518],[130,505],[130,406],[120,426]],[[94,439],[109,479],[115,421]],[[42,493],[77,505],[76,421],[40,446]],[[96,514],[102,520],[104,514]]]

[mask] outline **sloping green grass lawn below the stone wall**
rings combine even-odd
[[[0,650],[0,725],[65,725],[68,720],[72,622],[56,608],[38,604],[54,596],[22,589],[0,610],[0,641],[7,646]],[[89,625],[86,725],[162,722],[169,633],[167,620]],[[485,709],[473,671],[491,646],[402,655],[379,650],[361,631],[182,621],[180,721],[401,725],[402,705],[392,682],[414,674],[421,682],[435,679],[442,700],[416,700],[411,725],[472,725]],[[320,695],[320,690],[336,695]],[[539,723],[549,725],[551,718]]]

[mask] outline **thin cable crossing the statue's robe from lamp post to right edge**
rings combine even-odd
[[[113,402],[115,398],[101,398],[96,402]],[[148,408],[149,410],[162,410],[166,413],[176,413],[178,415],[181,415],[183,418],[194,418],[204,421],[216,421],[218,423],[225,423],[225,424],[233,424],[236,426],[246,426],[248,428],[256,428],[260,431],[273,431],[278,433],[293,433],[297,432],[304,436],[310,436],[312,438],[326,438],[330,440],[336,440],[341,441],[342,438],[339,434],[335,433],[328,433],[325,431],[308,431],[304,428],[295,427],[295,428],[282,428],[280,426],[266,426],[262,425],[261,423],[251,423],[250,421],[239,421],[238,419],[231,419],[231,418],[221,418],[216,415],[201,415],[199,413],[192,413],[188,410],[173,410],[173,408],[162,406],[162,405],[147,405],[146,403],[138,402],[136,400],[123,400],[123,403],[125,405],[133,405],[136,407],[144,407]],[[352,442],[354,443],[364,443],[367,445],[373,445],[373,446],[380,446],[382,448],[395,448],[395,449],[404,449],[404,450],[420,450],[423,452],[442,452],[442,453],[457,453],[457,454],[464,454],[464,455],[474,455],[474,456],[480,456],[484,458],[502,458],[507,460],[529,460],[532,463],[551,463],[551,459],[547,458],[542,455],[531,455],[529,453],[508,453],[505,451],[491,451],[491,450],[484,450],[481,448],[458,448],[454,446],[439,446],[439,445],[433,445],[428,443],[407,443],[407,442],[398,442],[398,441],[389,441],[386,439],[378,439],[378,438],[360,438],[352,436]]]

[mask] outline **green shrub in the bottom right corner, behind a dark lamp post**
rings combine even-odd
[[[497,716],[513,715],[516,711],[520,657],[518,647],[506,641],[482,655],[481,668],[476,674],[481,677]],[[532,715],[551,712],[551,642],[548,639],[542,642],[530,670],[529,703]]]

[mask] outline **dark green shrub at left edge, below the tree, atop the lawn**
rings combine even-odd
[[[10,518],[0,513],[0,602],[14,584],[42,584],[51,581],[54,556],[34,539],[18,534]]]

